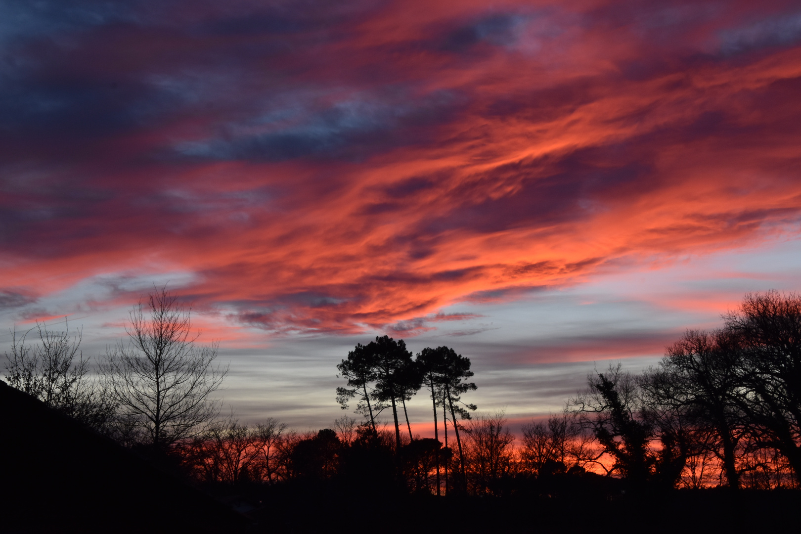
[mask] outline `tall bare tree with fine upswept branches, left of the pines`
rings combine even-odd
[[[195,344],[190,312],[163,287],[130,312],[127,343],[107,349],[100,371],[119,418],[135,439],[168,448],[195,435],[214,420],[219,403],[211,398],[227,368],[212,365],[217,344]]]

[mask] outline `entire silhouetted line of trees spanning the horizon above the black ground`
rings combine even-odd
[[[149,314],[146,316],[146,311]],[[166,290],[131,311],[125,343],[89,376],[80,332],[14,336],[10,385],[129,447],[170,456],[201,484],[351,484],[400,492],[509,495],[553,484],[670,488],[798,488],[801,468],[801,297],[749,294],[714,331],[687,331],[656,367],[588,375],[562,413],[515,436],[502,412],[471,416],[470,360],[450,347],[413,355],[384,335],[336,365],[344,416],[299,433],[275,419],[219,417],[225,369],[199,347],[190,310]],[[433,438],[413,434],[407,404],[430,402]],[[388,424],[382,416],[391,416]],[[442,426],[440,426],[442,424]],[[440,432],[442,430],[442,432]],[[449,441],[449,432],[456,443]],[[526,489],[528,488],[528,489]]]

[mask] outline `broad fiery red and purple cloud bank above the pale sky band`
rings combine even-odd
[[[621,6],[400,2],[284,33],[175,12],[20,45],[61,107],[2,134],[3,283],[184,271],[237,323],[408,334],[795,232],[801,48],[753,22],[783,4]]]

